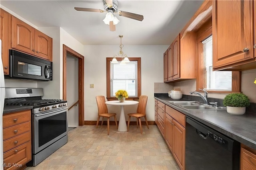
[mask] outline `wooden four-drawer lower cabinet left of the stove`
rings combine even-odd
[[[31,111],[3,115],[4,170],[26,167],[31,160]]]

